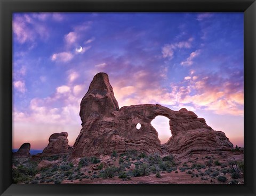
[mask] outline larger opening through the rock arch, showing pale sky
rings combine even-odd
[[[151,125],[158,133],[158,139],[161,141],[161,144],[166,143],[172,136],[169,121],[170,119],[165,116],[156,116],[151,121]]]

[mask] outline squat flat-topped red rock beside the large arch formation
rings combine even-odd
[[[53,133],[49,138],[48,146],[39,156],[53,156],[59,154],[68,154],[72,148],[68,145],[68,133]]]

